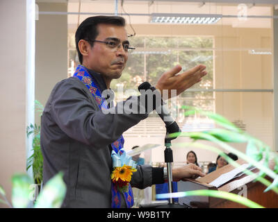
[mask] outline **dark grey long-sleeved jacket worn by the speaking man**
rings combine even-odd
[[[103,78],[90,75],[101,90]],[[117,114],[129,101],[145,109],[140,96],[131,96],[104,114],[87,87],[78,78],[57,83],[42,114],[40,141],[44,157],[44,184],[59,171],[64,173],[67,193],[62,207],[111,207],[111,143],[148,114]],[[131,186],[144,189],[163,182],[162,169],[138,166]],[[122,198],[122,207],[126,207]]]

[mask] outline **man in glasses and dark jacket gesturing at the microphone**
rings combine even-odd
[[[131,96],[116,106],[107,103],[104,90],[120,78],[129,56],[129,40],[122,17],[88,17],[77,28],[76,50],[81,65],[74,76],[52,90],[42,114],[43,181],[63,171],[67,193],[62,207],[132,207],[131,187],[144,189],[163,183],[163,167],[137,165],[124,151],[122,133],[148,117],[148,112],[125,113],[132,102],[147,110],[142,96]],[[199,65],[182,72],[166,71],[156,89],[175,89],[177,95],[206,75]],[[111,96],[113,96],[111,94]],[[109,112],[103,112],[109,110]],[[193,164],[173,169],[174,181],[204,176]]]

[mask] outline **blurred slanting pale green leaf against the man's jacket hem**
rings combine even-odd
[[[62,205],[66,193],[63,173],[58,173],[44,185],[35,203],[35,208],[58,208]]]

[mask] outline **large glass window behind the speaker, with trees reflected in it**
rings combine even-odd
[[[107,4],[87,3],[84,4],[83,10],[81,7],[81,12],[113,15],[114,8],[109,8]],[[69,6],[73,9],[77,8],[78,4],[70,3]],[[181,105],[191,105],[221,114],[272,147],[272,6],[256,4],[249,7],[236,3],[206,3],[200,6],[199,3],[181,1],[154,1],[152,4],[147,1],[126,1],[124,10],[131,15],[130,18],[124,15],[128,33],[132,33],[130,25],[136,31],[136,35],[129,39],[136,50],[129,55],[122,77],[113,80],[113,89],[118,86],[137,89],[145,80],[155,85],[159,76],[174,65],[180,64],[187,70],[204,64],[208,75],[178,96],[174,117],[177,118],[179,126],[186,126],[187,129],[196,126],[214,127],[213,123],[204,117],[183,117]],[[121,15],[120,6],[118,12]],[[242,12],[243,15],[240,14]],[[188,16],[208,17],[217,14],[221,15],[221,19],[215,24],[154,24],[150,23],[153,13],[183,13]],[[89,16],[92,15],[81,15],[79,24]],[[69,40],[73,42],[69,44],[69,49],[73,50],[69,54],[74,61],[77,15],[69,17]],[[70,65],[74,66],[76,63],[69,60]],[[117,99],[125,98],[118,96]],[[124,133],[127,149],[147,143],[163,146],[164,136],[164,123],[155,112]],[[144,139],[141,139],[142,137]],[[188,142],[183,138],[175,141]],[[240,151],[245,151],[245,144],[233,145]],[[184,161],[181,152],[183,151],[177,151],[179,155],[176,155],[176,162]],[[215,160],[215,154],[207,154],[202,151],[198,160]],[[163,161],[163,154],[156,153],[153,161]]]

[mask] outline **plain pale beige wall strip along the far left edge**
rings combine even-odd
[[[26,1],[0,1],[0,185],[26,169]],[[5,207],[5,205],[0,205]]]

